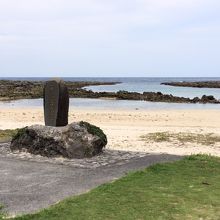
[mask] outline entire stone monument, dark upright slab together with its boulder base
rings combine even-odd
[[[12,151],[29,152],[46,157],[92,157],[107,144],[104,132],[88,122],[68,124],[69,94],[61,80],[44,85],[45,125],[18,130],[10,145]]]

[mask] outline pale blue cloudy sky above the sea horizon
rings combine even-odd
[[[220,76],[219,0],[0,0],[0,76]]]

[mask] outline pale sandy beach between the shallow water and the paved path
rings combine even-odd
[[[108,149],[190,155],[220,156],[220,144],[149,142],[141,136],[154,132],[187,132],[220,135],[220,110],[99,110],[71,108],[69,122],[88,121],[101,127],[108,137]],[[0,129],[44,124],[42,108],[0,110]]]

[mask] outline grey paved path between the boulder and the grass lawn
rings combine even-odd
[[[146,155],[124,163],[80,168],[8,158],[0,154],[0,203],[9,215],[31,213],[66,197],[84,193],[129,171],[151,164],[178,160],[175,155]]]

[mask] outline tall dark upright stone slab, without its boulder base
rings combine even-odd
[[[69,93],[62,80],[50,80],[44,85],[44,120],[46,126],[68,124]]]

